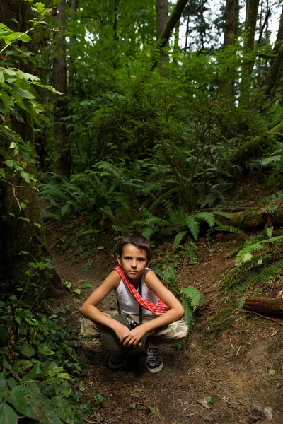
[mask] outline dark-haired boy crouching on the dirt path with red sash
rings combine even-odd
[[[149,372],[162,370],[163,361],[158,346],[181,341],[187,334],[187,324],[181,320],[183,306],[151,271],[151,249],[148,240],[141,235],[131,235],[120,243],[117,257],[119,266],[93,291],[81,307],[85,318],[81,334],[97,336],[101,326],[114,331],[122,348],[136,348],[141,338],[146,338],[146,367]],[[117,311],[100,312],[97,305],[114,290],[118,307],[134,324],[129,329],[116,320]],[[133,323],[133,321],[132,321]],[[121,350],[117,353],[121,353]],[[117,369],[125,365],[127,355],[112,355],[109,366]]]

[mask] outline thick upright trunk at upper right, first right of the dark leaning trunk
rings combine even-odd
[[[238,15],[238,0],[226,0],[224,49],[235,44],[238,35]],[[235,94],[236,52],[233,52],[233,62],[234,66],[226,68],[226,74],[219,83],[219,94],[228,98],[234,98]]]

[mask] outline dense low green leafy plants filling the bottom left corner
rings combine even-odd
[[[40,424],[81,424],[90,405],[81,399],[79,341],[76,329],[66,325],[68,307],[30,303],[21,285],[15,293],[0,301],[1,423],[27,417]]]

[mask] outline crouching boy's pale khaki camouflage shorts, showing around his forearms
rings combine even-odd
[[[107,315],[110,318],[116,317],[118,311],[105,311],[103,314]],[[130,315],[135,322],[139,322],[139,315]],[[143,322],[151,321],[151,319],[157,318],[156,315],[143,315]],[[152,336],[161,336],[163,338],[184,338],[187,335],[187,323],[183,319],[178,321],[171,322],[166,326],[159,327],[156,330],[151,331],[149,334]],[[81,336],[100,336],[100,325],[96,322],[91,321],[90,319],[83,318],[81,319]]]

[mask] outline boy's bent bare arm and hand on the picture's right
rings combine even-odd
[[[125,338],[124,344],[132,344],[136,346],[140,338],[152,330],[158,329],[161,326],[171,324],[171,322],[178,321],[184,314],[184,308],[180,304],[179,300],[175,298],[168,288],[166,288],[161,281],[158,279],[153,271],[147,271],[144,276],[144,282],[146,283],[149,290],[154,291],[158,298],[160,298],[169,310],[165,314],[160,315],[156,319],[151,319],[148,322],[144,322],[140,326],[133,329],[129,336]]]

